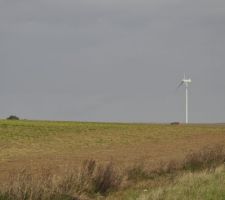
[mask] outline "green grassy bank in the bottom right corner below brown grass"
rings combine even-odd
[[[225,168],[215,171],[186,172],[173,181],[155,187],[138,188],[112,194],[108,200],[224,200]]]

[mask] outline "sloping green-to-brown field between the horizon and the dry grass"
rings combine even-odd
[[[58,170],[86,159],[127,167],[183,159],[191,150],[225,144],[224,125],[0,121],[0,178],[14,169]]]

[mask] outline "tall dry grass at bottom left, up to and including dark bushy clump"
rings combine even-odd
[[[37,174],[28,170],[15,171],[1,185],[0,199],[89,199],[118,189],[121,180],[112,163],[103,166],[94,160],[85,161],[78,171],[67,168],[60,176],[49,169],[42,169]]]

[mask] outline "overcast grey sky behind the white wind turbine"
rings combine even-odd
[[[225,122],[225,1],[0,0],[0,117]]]

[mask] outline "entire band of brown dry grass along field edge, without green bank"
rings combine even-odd
[[[112,162],[102,165],[95,160],[86,160],[79,170],[70,166],[61,175],[55,175],[50,169],[42,169],[36,174],[27,170],[16,171],[8,177],[8,182],[1,185],[0,199],[94,199],[98,194],[107,196],[109,192],[131,187],[142,180],[159,185],[159,179],[167,180],[170,176],[174,180],[184,170],[215,170],[224,164],[224,159],[224,148],[211,146],[188,154],[182,162],[160,163],[154,170],[148,170],[140,163],[121,173]],[[126,185],[122,184],[124,180]]]

